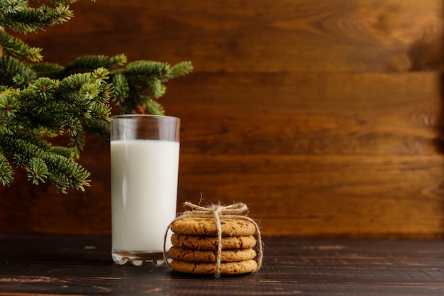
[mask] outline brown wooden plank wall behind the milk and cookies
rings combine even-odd
[[[126,53],[195,71],[162,98],[182,118],[178,209],[245,202],[265,236],[444,237],[443,1],[97,0],[25,40],[45,60]],[[109,233],[109,148],[87,192],[23,177],[0,231]]]

